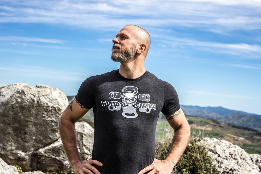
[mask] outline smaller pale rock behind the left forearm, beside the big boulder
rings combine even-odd
[[[94,129],[86,122],[76,122],[77,146],[83,161],[90,160],[93,147]],[[61,139],[54,143],[38,149],[33,153],[33,164],[35,169],[47,171],[65,171],[69,173],[72,168],[67,160]]]

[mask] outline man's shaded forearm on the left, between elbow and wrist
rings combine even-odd
[[[67,154],[68,160],[73,167],[77,162],[81,161],[77,148],[75,124],[74,122],[61,117],[59,129],[63,147]]]

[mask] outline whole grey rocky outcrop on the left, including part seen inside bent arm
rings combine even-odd
[[[0,158],[26,171],[71,170],[58,131],[67,105],[66,95],[57,88],[26,83],[1,85]],[[84,122],[77,123],[76,129],[81,157],[90,159],[94,130]]]

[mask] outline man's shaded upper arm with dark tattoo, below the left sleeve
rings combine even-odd
[[[75,98],[73,98],[62,113],[61,119],[67,119],[75,123],[83,117],[88,110],[90,109],[81,105]]]

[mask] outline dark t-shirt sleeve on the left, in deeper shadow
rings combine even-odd
[[[82,82],[75,99],[84,107],[91,109],[94,105],[94,94],[98,76],[91,76]]]

